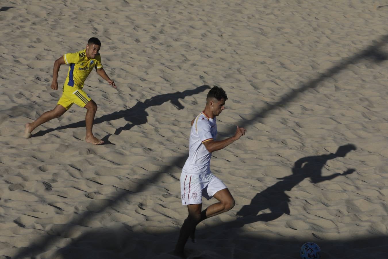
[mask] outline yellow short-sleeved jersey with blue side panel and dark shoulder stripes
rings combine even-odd
[[[94,59],[86,57],[86,49],[76,53],[66,53],[63,55],[65,63],[69,65],[68,76],[64,85],[83,88],[86,78],[94,67],[102,68],[101,56],[98,53]]]

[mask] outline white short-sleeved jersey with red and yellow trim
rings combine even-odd
[[[187,158],[182,172],[188,175],[210,173],[211,153],[205,148],[206,141],[216,140],[216,118],[209,118],[203,112],[199,114],[192,127],[189,141],[189,158]]]

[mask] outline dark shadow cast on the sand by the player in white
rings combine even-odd
[[[336,153],[300,158],[294,163],[292,175],[280,178],[281,181],[258,193],[249,205],[244,205],[237,212],[237,216],[243,218],[239,220],[243,224],[248,224],[256,221],[272,221],[283,214],[289,215],[288,202],[290,197],[286,194],[286,191],[291,191],[292,188],[305,178],[310,178],[312,183],[320,183],[338,176],[352,174],[355,169],[348,169],[342,174],[335,173],[329,176],[322,176],[322,169],[328,160],[345,157],[347,153],[355,149],[355,145],[347,144],[340,146]],[[269,209],[271,212],[258,215],[260,211],[265,209]]]

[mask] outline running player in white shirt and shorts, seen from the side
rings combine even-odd
[[[227,99],[228,97],[221,87],[213,87],[206,97],[205,110],[191,121],[189,158],[187,158],[180,176],[182,204],[187,205],[189,216],[180,229],[174,250],[174,254],[181,257],[185,257],[184,247],[189,236],[194,242],[194,232],[199,222],[227,212],[234,207],[234,199],[228,188],[210,171],[211,153],[225,148],[246,132],[244,128],[237,127],[234,136],[216,141],[216,116],[225,109]],[[201,212],[202,196],[208,200],[215,197],[218,202]]]

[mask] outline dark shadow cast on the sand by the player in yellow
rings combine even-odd
[[[132,108],[121,110],[121,111],[115,111],[114,113],[103,115],[99,118],[95,118],[94,125],[102,122],[124,118],[129,123],[126,123],[122,127],[119,127],[113,133],[115,135],[119,135],[123,130],[130,130],[135,125],[142,125],[147,123],[148,113],[147,111],[145,111],[147,108],[151,106],[159,106],[159,105],[162,105],[163,103],[170,101],[178,110],[181,110],[181,109],[184,109],[184,106],[179,102],[179,99],[184,99],[187,96],[199,94],[200,92],[204,92],[206,89],[210,89],[210,86],[201,85],[196,89],[184,90],[183,92],[175,92],[171,94],[159,94],[157,96],[152,97],[151,99],[145,100],[144,102],[138,101]],[[62,129],[78,128],[78,127],[85,127],[85,120],[80,122],[74,122],[64,126],[59,126],[59,127],[56,127],[55,129],[40,130],[35,134],[33,134],[33,137],[43,136],[54,130],[62,130]],[[113,144],[108,140],[109,136],[111,135],[112,134],[108,134],[107,136],[102,138],[105,144]]]

